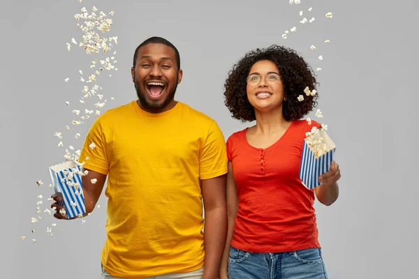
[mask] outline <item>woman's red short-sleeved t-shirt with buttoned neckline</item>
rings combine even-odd
[[[293,121],[266,149],[247,142],[247,128],[228,138],[239,200],[231,246],[249,252],[320,248],[314,189],[305,188],[298,176],[305,133],[313,126],[320,124]]]

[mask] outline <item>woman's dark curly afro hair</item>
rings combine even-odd
[[[228,73],[224,84],[224,103],[230,110],[231,115],[240,121],[256,120],[255,110],[247,99],[247,76],[251,66],[261,60],[274,62],[284,84],[286,101],[283,102],[282,113],[284,119],[293,121],[302,119],[309,114],[317,105],[318,95],[306,96],[304,89],[309,86],[312,91],[316,89],[316,77],[310,66],[294,50],[279,45],[271,45],[265,49],[256,49],[247,52]],[[299,95],[304,100],[297,100]]]

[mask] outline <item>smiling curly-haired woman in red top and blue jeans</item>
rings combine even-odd
[[[316,92],[311,68],[277,45],[247,53],[228,75],[228,110],[256,125],[227,140],[228,238],[221,279],[328,278],[313,205],[315,195],[325,205],[336,201],[340,171],[333,162],[313,190],[298,176],[304,137],[321,128],[302,120],[316,106],[316,93],[304,93],[307,86]]]

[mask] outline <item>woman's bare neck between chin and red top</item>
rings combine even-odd
[[[256,133],[271,134],[277,133],[279,130],[284,130],[288,127],[291,121],[286,121],[282,114],[282,107],[270,112],[260,112],[255,110],[256,114]]]

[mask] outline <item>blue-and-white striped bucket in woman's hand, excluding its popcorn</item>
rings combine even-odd
[[[320,186],[318,177],[330,169],[330,164],[335,156],[336,145],[330,139],[327,133],[320,131],[323,142],[328,146],[328,152],[322,156],[316,157],[304,140],[302,148],[302,157],[300,164],[300,179],[302,184],[309,190]]]

